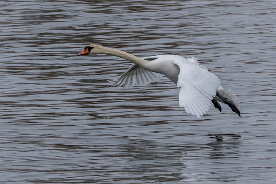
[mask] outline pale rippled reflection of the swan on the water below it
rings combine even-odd
[[[208,176],[210,181],[231,181],[233,175],[240,176],[239,159],[241,153],[241,135],[238,134],[206,134],[212,141],[200,145],[196,149],[182,152],[183,182],[196,182]],[[225,169],[227,165],[228,170]],[[225,177],[230,170],[231,175]],[[226,173],[225,173],[226,172]],[[234,177],[235,178],[235,177]]]

